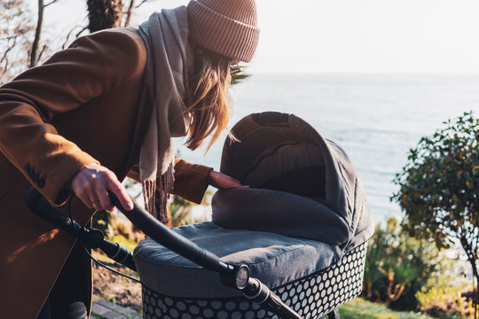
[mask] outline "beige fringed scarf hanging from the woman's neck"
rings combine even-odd
[[[171,137],[185,136],[189,121],[185,113],[189,56],[186,7],[155,12],[138,31],[148,51],[145,84],[153,101],[139,156],[140,179],[145,209],[161,222],[168,222],[166,205],[173,191],[175,159]]]

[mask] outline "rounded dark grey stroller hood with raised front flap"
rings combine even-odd
[[[217,191],[213,222],[332,245],[373,234],[365,193],[342,148],[293,114],[255,113],[224,144],[221,171],[248,189]]]

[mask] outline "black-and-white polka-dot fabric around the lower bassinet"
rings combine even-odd
[[[273,289],[281,300],[305,319],[321,318],[355,298],[362,289],[367,243],[346,253],[341,261],[317,273]],[[162,295],[143,285],[145,319],[271,318],[245,298],[187,299]]]

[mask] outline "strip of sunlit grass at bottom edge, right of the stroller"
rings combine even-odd
[[[341,319],[433,319],[433,317],[413,312],[398,312],[388,307],[356,298],[340,307]],[[447,316],[444,319],[460,319]]]

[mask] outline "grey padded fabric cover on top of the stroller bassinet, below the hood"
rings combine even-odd
[[[308,239],[260,231],[225,230],[214,222],[173,229],[222,261],[246,263],[252,276],[270,288],[308,276],[338,261],[339,250]],[[240,292],[221,284],[219,276],[173,253],[151,239],[134,252],[141,281],[155,292],[173,297],[236,297]]]

